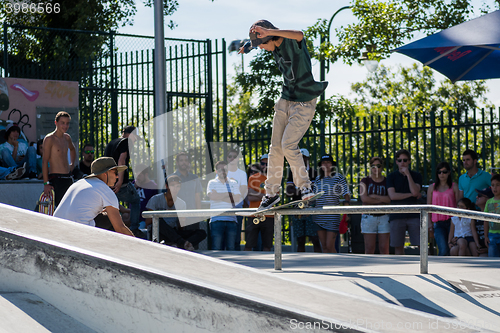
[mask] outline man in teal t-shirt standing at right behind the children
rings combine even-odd
[[[491,175],[477,167],[477,153],[467,149],[462,154],[464,169],[467,171],[458,179],[459,198],[468,198],[476,203],[476,188],[485,188],[491,185]]]

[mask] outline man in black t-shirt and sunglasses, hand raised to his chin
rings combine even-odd
[[[387,176],[387,193],[391,198],[391,205],[416,205],[420,199],[422,188],[422,175],[410,170],[410,152],[401,149],[396,152],[398,170]],[[405,252],[406,230],[410,235],[412,245],[420,246],[420,216],[419,214],[399,213],[389,217],[391,226],[390,245],[394,247],[395,254]]]

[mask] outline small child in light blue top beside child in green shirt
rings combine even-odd
[[[457,208],[474,210],[474,204],[468,198],[458,200]],[[471,219],[453,216],[451,218],[448,245],[452,256],[470,256],[469,243],[474,242],[473,234],[476,230],[471,228]],[[476,235],[477,237],[477,235]]]

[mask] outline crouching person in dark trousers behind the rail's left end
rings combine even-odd
[[[178,197],[182,188],[179,176],[168,176],[165,179],[165,188],[164,193],[156,194],[149,199],[146,210],[185,210],[186,203]],[[207,233],[205,230],[185,230],[181,226],[185,225],[184,219],[184,217],[161,218],[159,221],[160,240],[174,243],[180,249],[194,251],[194,247],[207,237]],[[151,225],[151,218],[146,219],[146,225]]]

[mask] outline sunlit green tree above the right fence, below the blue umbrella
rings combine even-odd
[[[363,82],[354,83],[357,96],[350,103],[351,116],[429,114],[452,110],[457,118],[464,110],[489,105],[483,80],[452,84],[450,80],[436,82],[429,67],[417,64],[396,71],[383,65]]]

